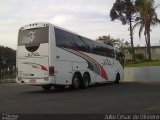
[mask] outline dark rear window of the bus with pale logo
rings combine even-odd
[[[20,30],[18,45],[48,43],[49,27]]]

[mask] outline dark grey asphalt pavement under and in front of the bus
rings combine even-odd
[[[48,92],[39,86],[0,84],[0,113],[160,113],[160,84],[103,84]]]

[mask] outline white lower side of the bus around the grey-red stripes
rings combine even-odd
[[[85,59],[81,58],[76,54],[72,54],[64,49],[58,48],[56,51],[56,66],[55,66],[55,76],[56,84],[71,84],[72,76],[75,72],[81,71],[82,75],[84,72],[89,72],[91,74],[92,82],[107,82],[114,81],[115,75],[115,59],[102,57],[99,55],[93,55],[90,53],[84,53],[86,56],[92,58],[95,62],[99,63],[106,71],[108,79],[105,80],[100,75],[96,74],[94,71],[89,70],[88,64]],[[107,61],[107,62],[106,62]],[[106,62],[106,63],[103,63]],[[67,82],[66,82],[67,81]]]

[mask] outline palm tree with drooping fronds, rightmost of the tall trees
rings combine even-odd
[[[160,23],[157,17],[156,8],[154,6],[154,0],[136,0],[135,1],[136,10],[138,12],[137,23],[134,25],[133,29],[137,26],[139,27],[139,37],[144,30],[145,41],[147,44],[147,53],[149,60],[151,61],[151,48],[150,48],[150,32],[151,26]]]

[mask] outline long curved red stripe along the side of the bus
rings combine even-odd
[[[83,54],[84,56],[90,58],[90,59],[93,60],[95,63],[97,63],[98,66],[99,66],[99,68],[100,68],[100,71],[101,71],[101,77],[103,77],[105,80],[108,80],[108,77],[107,77],[107,74],[106,74],[105,70],[103,69],[103,67],[102,67],[96,60],[94,60],[94,59],[91,58],[90,56],[88,56],[88,55],[86,55],[86,54],[84,54],[84,53],[82,53],[82,52],[80,52],[80,51],[77,51],[77,52]]]

